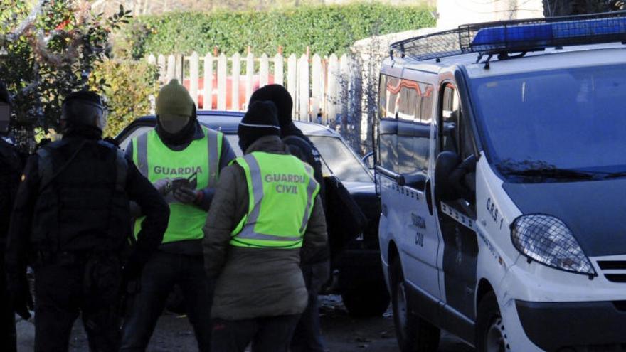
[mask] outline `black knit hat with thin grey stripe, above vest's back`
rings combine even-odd
[[[276,106],[272,102],[251,102],[237,129],[239,147],[245,151],[260,137],[280,137]]]

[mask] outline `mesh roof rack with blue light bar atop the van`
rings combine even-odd
[[[500,55],[548,47],[626,43],[626,11],[474,23],[391,44],[391,56],[432,60],[465,53]]]

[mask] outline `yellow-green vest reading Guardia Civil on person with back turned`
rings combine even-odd
[[[254,248],[302,247],[319,184],[311,166],[291,155],[255,151],[233,162],[245,171],[248,213],[230,245]]]

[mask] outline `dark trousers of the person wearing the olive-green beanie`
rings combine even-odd
[[[179,284],[183,292],[198,349],[210,351],[213,284],[206,278],[203,257],[159,251],[150,257],[142,272],[140,291],[133,297],[124,321],[120,351],[146,350],[174,284]]]

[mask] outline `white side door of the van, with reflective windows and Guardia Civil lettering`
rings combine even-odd
[[[381,231],[396,240],[411,291],[434,303],[440,301],[440,287],[439,236],[428,176],[432,100],[432,85],[381,78],[377,175],[383,205],[381,224],[386,224]]]

